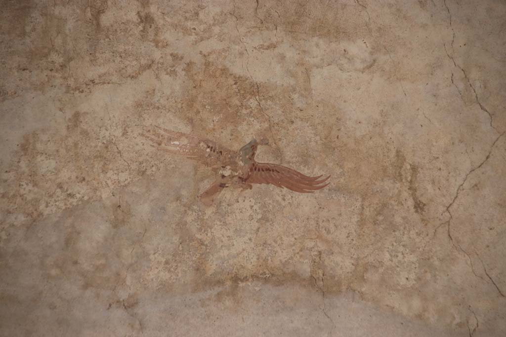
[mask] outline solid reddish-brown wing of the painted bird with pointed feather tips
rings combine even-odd
[[[245,182],[254,184],[273,184],[296,192],[312,193],[329,183],[324,183],[330,176],[309,177],[286,166],[254,162],[250,165]]]

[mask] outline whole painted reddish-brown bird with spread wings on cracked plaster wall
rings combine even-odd
[[[259,163],[255,155],[259,145],[268,145],[264,138],[253,138],[239,151],[229,150],[218,143],[195,135],[168,130],[159,126],[146,128],[142,136],[159,150],[184,155],[210,167],[219,168],[220,176],[199,196],[205,205],[226,187],[251,189],[252,184],[272,184],[300,193],[312,193],[328,185],[322,176],[309,177],[282,165]]]

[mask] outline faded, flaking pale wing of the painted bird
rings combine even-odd
[[[200,138],[188,133],[168,130],[159,126],[145,128],[142,136],[158,146],[158,149],[184,155],[188,158],[206,162],[209,165],[225,163],[234,158],[235,153],[213,140]]]

